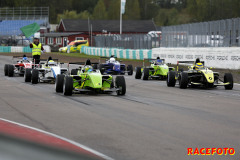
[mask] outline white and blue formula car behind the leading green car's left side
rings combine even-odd
[[[41,60],[43,61],[43,60]],[[68,69],[62,68],[63,63],[58,63],[58,59],[48,59],[40,62],[40,67],[34,69],[26,69],[24,74],[25,82],[37,84],[39,82],[53,83],[58,74],[67,74]]]

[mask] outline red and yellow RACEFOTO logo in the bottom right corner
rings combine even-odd
[[[188,155],[235,155],[234,148],[187,148]]]

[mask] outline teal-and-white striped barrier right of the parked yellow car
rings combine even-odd
[[[95,47],[82,47],[82,53],[93,56],[106,56],[114,55],[118,58],[124,59],[139,59],[152,58],[152,50],[133,50],[133,49],[118,49],[118,48],[95,48]]]

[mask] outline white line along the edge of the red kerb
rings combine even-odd
[[[95,150],[93,150],[93,149],[91,149],[91,148],[89,148],[89,147],[87,147],[87,146],[84,146],[84,145],[82,145],[82,144],[80,144],[80,143],[74,142],[74,141],[72,141],[72,140],[70,140],[70,139],[67,139],[67,138],[58,136],[58,135],[56,135],[56,134],[53,134],[53,133],[50,133],[50,132],[46,132],[46,131],[43,131],[43,130],[38,129],[38,128],[30,127],[30,126],[27,126],[27,125],[24,125],[24,124],[21,124],[21,123],[18,123],[18,122],[10,121],[10,120],[7,120],[7,119],[3,119],[3,118],[0,118],[0,120],[5,121],[5,122],[10,122],[10,123],[13,123],[13,124],[16,124],[16,125],[25,127],[25,128],[29,128],[29,129],[32,129],[32,130],[35,130],[35,131],[38,131],[38,132],[41,132],[41,133],[44,133],[44,134],[47,134],[47,135],[56,137],[56,138],[59,138],[59,139],[61,139],[61,140],[64,140],[64,141],[66,141],[66,142],[69,142],[69,143],[71,143],[71,144],[73,144],[73,145],[76,145],[76,146],[78,146],[78,147],[80,147],[80,148],[83,148],[83,149],[85,149],[86,151],[89,151],[89,152],[91,152],[91,153],[93,153],[93,154],[95,154],[95,155],[97,155],[97,156],[99,156],[99,157],[101,157],[101,158],[106,159],[106,160],[114,160],[113,158],[108,157],[108,156],[106,156],[106,155],[104,155],[104,154],[102,154],[102,153],[100,153],[100,152],[98,152],[98,151],[95,151]]]

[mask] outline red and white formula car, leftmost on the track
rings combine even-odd
[[[17,60],[16,60],[17,59]],[[4,74],[5,76],[13,77],[15,75],[23,76],[26,69],[34,68],[34,63],[28,59],[26,56],[19,57],[13,56],[13,63],[17,61],[15,64],[5,64],[4,65]]]

